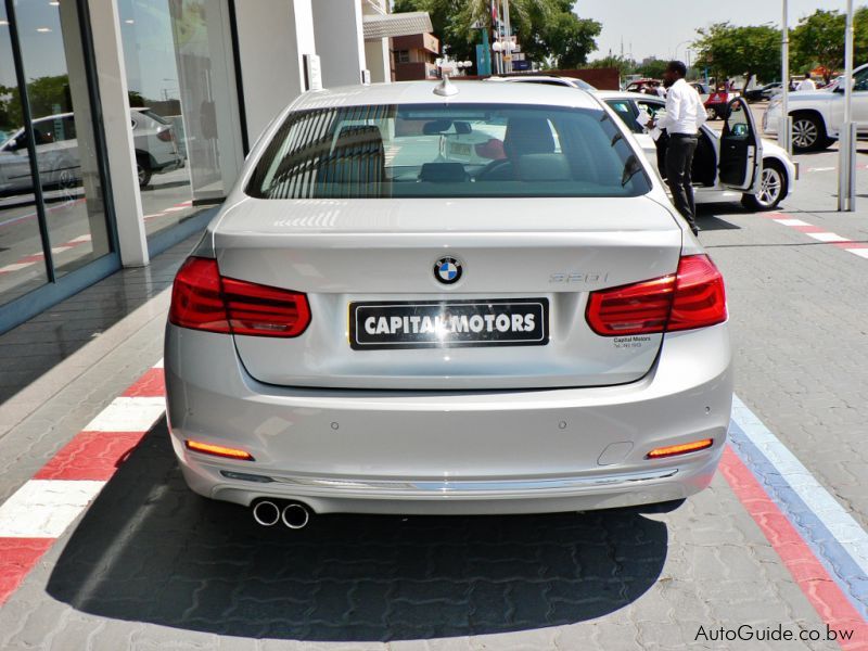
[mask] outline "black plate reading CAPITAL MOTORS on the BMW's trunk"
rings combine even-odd
[[[356,350],[545,346],[548,298],[359,302],[349,304],[349,345]]]

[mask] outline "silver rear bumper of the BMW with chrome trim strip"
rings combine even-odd
[[[527,513],[624,507],[703,489],[731,405],[726,326],[666,335],[652,371],[622,386],[498,392],[276,387],[253,380],[231,337],[169,326],[173,446],[190,487],[317,512]],[[714,438],[662,460],[654,447]],[[255,461],[192,452],[186,438]]]

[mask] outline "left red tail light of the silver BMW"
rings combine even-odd
[[[208,332],[290,337],[310,323],[310,308],[305,294],[224,278],[217,260],[190,257],[175,277],[169,322]]]

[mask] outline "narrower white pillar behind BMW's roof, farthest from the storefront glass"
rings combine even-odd
[[[359,0],[315,0],[314,33],[320,44],[322,86],[361,84],[366,69]]]

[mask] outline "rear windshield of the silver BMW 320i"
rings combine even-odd
[[[602,110],[502,104],[291,113],[258,161],[259,199],[638,196],[650,181]]]

